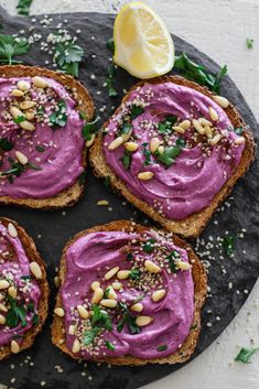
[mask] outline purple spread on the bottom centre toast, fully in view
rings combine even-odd
[[[158,358],[184,343],[193,324],[194,283],[187,252],[175,247],[172,235],[86,234],[69,246],[65,259],[66,279],[61,288],[65,342],[72,352],[77,344],[73,352],[77,357]],[[150,272],[147,260],[160,272]],[[115,268],[117,272],[107,280],[105,274]],[[121,279],[123,270],[128,270],[127,279]],[[96,282],[105,293],[102,299],[114,299],[116,306],[104,306],[104,300],[93,303]],[[164,295],[153,301],[153,292],[161,290]],[[133,304],[141,304],[142,311],[131,310]],[[87,311],[87,318],[82,318],[78,305]],[[150,323],[142,326],[140,316],[148,316]]]

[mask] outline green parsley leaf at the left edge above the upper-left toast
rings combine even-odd
[[[22,61],[13,60],[15,55],[26,54],[30,45],[25,37],[14,37],[12,35],[0,34],[0,63],[18,64]]]

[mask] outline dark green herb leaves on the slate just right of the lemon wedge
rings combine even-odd
[[[175,57],[174,68],[181,71],[186,78],[207,86],[217,94],[220,91],[222,79],[227,73],[227,66],[225,65],[216,75],[211,74],[203,65],[191,61],[185,53]]]

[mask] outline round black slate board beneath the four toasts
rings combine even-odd
[[[30,19],[11,18],[2,9],[0,9],[0,22],[3,24],[4,33],[18,33],[20,30],[25,30],[26,32],[31,25]],[[68,29],[72,34],[78,29],[82,30],[78,42],[85,48],[86,57],[82,64],[79,78],[91,93],[96,107],[107,106],[105,114],[101,114],[101,118],[105,120],[111,112],[111,106],[119,105],[122,89],[129,88],[136,82],[126,72],[118,69],[116,87],[120,91],[120,96],[114,100],[107,96],[107,91],[102,87],[105,69],[110,64],[108,60],[110,54],[106,48],[106,41],[112,34],[114,15],[74,13],[52,15],[52,18],[51,25],[46,28],[43,28],[40,23],[33,23],[35,28],[34,32],[45,36],[51,31],[56,30],[55,26],[60,22],[63,22],[64,19],[67,20],[67,23],[63,24],[63,26]],[[36,17],[36,19],[42,20],[43,17]],[[176,52],[185,51],[211,72],[215,73],[218,71],[218,66],[211,58],[185,41],[174,36],[174,42]],[[96,58],[93,58],[93,54],[96,55]],[[24,62],[30,65],[44,66],[45,60],[50,60],[50,56],[47,53],[40,51],[39,43],[34,44],[30,54],[24,56]],[[96,78],[91,79],[89,77],[90,74],[95,74]],[[248,76],[252,77],[252,75]],[[98,94],[98,91],[101,93]],[[258,136],[257,121],[244,97],[228,76],[224,78],[222,94],[238,107],[244,119],[250,125],[255,136],[256,132]],[[244,290],[250,292],[259,274],[259,261],[257,259],[259,251],[258,193],[259,171],[257,158],[249,173],[235,187],[235,198],[231,202],[231,206],[225,207],[224,212],[217,213],[202,235],[202,238],[208,239],[209,236],[222,236],[226,229],[234,235],[240,231],[241,228],[247,229],[245,239],[238,239],[236,242],[235,259],[225,257],[224,260],[220,260],[218,251],[212,249],[212,252],[216,257],[216,260],[212,261],[209,268],[209,287],[213,298],[207,299],[203,310],[202,334],[193,358],[211,345],[226,328],[247,299],[248,294],[244,293]],[[102,198],[110,202],[112,212],[96,205],[96,202]],[[13,356],[9,360],[1,361],[1,383],[15,389],[41,388],[41,381],[46,382],[44,388],[47,389],[132,389],[164,377],[181,367],[177,365],[108,368],[107,366],[97,367],[95,364],[87,364],[86,367],[84,364],[78,364],[60,353],[51,343],[50,324],[56,292],[53,287],[53,278],[64,244],[74,234],[85,228],[114,219],[133,217],[136,221],[143,223],[145,219],[143,214],[130,205],[123,206],[121,198],[109,192],[104,183],[95,179],[90,170],[88,170],[85,197],[73,208],[66,209],[65,215],[62,210],[53,213],[30,212],[13,207],[2,207],[0,215],[17,219],[34,238],[39,250],[47,263],[47,274],[52,288],[51,314],[48,315],[43,333],[36,338],[34,346],[30,350]],[[217,225],[214,224],[215,219],[218,220]],[[40,236],[42,237],[40,238]],[[244,250],[246,250],[246,253],[244,253]],[[224,277],[220,269],[222,263],[224,263],[227,270]],[[228,288],[229,282],[234,284],[233,290]],[[239,293],[237,293],[237,290]],[[207,313],[208,310],[212,310],[211,314]],[[222,320],[216,321],[216,316],[220,316]],[[207,327],[206,323],[208,321],[213,323],[212,327]],[[30,360],[28,356],[31,358]],[[30,366],[31,361],[33,361],[33,366]],[[15,365],[14,369],[10,369],[10,365],[12,364]],[[57,366],[63,369],[63,372],[57,371]],[[15,377],[15,382],[10,383],[13,377]]]

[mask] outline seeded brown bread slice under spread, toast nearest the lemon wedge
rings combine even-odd
[[[166,82],[172,82],[174,84],[187,86],[211,98],[214,96],[214,94],[209,91],[207,88],[202,87],[201,85],[193,83],[191,80],[187,80],[186,78],[183,78],[180,76],[164,76],[164,77],[159,77],[159,78],[148,80],[148,83],[152,83],[152,84],[161,84]],[[122,99],[122,102],[127,101],[127,99],[129,98],[129,94],[132,90],[143,86],[147,80],[142,80],[137,85],[134,85],[132,89],[125,96],[125,98]],[[121,106],[116,110],[116,114],[119,112],[120,109],[121,109]],[[234,125],[234,127],[242,127],[245,130],[244,137],[246,138],[246,147],[244,149],[240,163],[237,166],[236,171],[233,173],[231,177],[225,183],[222,190],[215,195],[209,206],[207,206],[206,208],[195,214],[192,214],[185,217],[182,220],[173,220],[161,216],[152,206],[150,206],[143,199],[138,198],[134,194],[132,194],[128,190],[125,182],[114,173],[111,168],[106,162],[106,156],[102,150],[101,132],[99,133],[93,147],[90,148],[90,152],[89,152],[90,164],[94,169],[95,174],[98,177],[105,179],[109,176],[110,184],[114,190],[116,190],[118,193],[123,195],[127,201],[129,201],[136,207],[144,212],[148,216],[153,218],[155,221],[160,223],[164,228],[166,228],[170,231],[176,233],[183,237],[196,237],[202,233],[202,230],[211,219],[213,213],[217,209],[220,203],[229,195],[237,180],[246,173],[246,171],[248,170],[249,165],[251,164],[255,158],[255,142],[253,142],[253,138],[250,129],[248,128],[248,126],[246,126],[242,118],[240,117],[240,115],[238,114],[237,109],[234,106],[229,105],[225,109],[225,111],[229,120]],[[104,125],[104,128],[107,127],[107,125],[108,125],[108,121]]]

